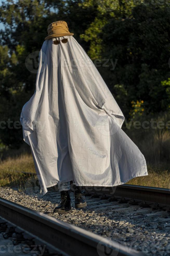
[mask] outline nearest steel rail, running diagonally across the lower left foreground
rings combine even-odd
[[[62,222],[44,213],[0,198],[0,216],[26,232],[47,242],[64,255],[74,256],[143,256],[142,252],[116,241]],[[104,248],[105,247],[105,248]],[[103,252],[103,248],[105,251]],[[108,254],[108,252],[111,252]],[[113,254],[112,254],[113,253]]]

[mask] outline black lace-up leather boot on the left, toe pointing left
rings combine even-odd
[[[71,208],[71,199],[70,199],[70,192],[67,191],[61,191],[60,192],[61,195],[61,200],[60,200],[60,204],[54,208],[53,213],[58,212],[60,214],[65,214],[67,212],[71,212],[72,208]]]

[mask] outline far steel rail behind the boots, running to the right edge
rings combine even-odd
[[[170,189],[123,184],[116,187],[82,187],[90,193],[114,195],[129,199],[170,206]]]

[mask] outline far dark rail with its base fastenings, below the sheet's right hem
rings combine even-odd
[[[110,202],[127,202],[130,205],[170,211],[170,190],[166,188],[146,187],[123,184],[116,187],[82,187],[88,196],[100,197]],[[108,205],[107,205],[108,206]]]

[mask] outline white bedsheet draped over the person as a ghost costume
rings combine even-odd
[[[148,175],[139,148],[121,129],[125,117],[97,68],[73,36],[39,54],[34,95],[22,108],[43,195],[58,182],[116,186]]]

